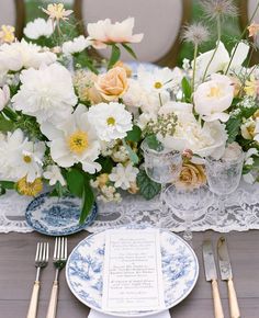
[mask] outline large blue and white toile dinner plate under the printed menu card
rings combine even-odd
[[[103,313],[104,242],[105,231],[87,237],[74,249],[66,266],[67,283],[72,294],[88,307],[101,313]],[[160,243],[166,304],[164,310],[166,310],[179,304],[191,293],[198,280],[199,263],[194,251],[179,236],[168,230],[160,230]],[[155,315],[158,311],[104,314],[117,317],[139,317]]]

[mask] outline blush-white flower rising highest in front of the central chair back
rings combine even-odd
[[[95,48],[105,48],[108,43],[138,43],[143,39],[143,34],[132,34],[134,22],[134,18],[127,18],[114,24],[110,19],[88,23],[88,38]]]

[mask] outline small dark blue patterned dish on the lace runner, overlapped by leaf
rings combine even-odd
[[[92,224],[98,208],[94,204],[86,222],[79,224],[81,200],[74,196],[49,196],[41,194],[27,206],[25,218],[36,231],[48,236],[67,236],[82,230]]]

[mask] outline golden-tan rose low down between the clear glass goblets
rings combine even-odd
[[[203,166],[191,162],[183,163],[176,188],[192,190],[206,183],[206,175]]]

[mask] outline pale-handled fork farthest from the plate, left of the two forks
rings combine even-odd
[[[45,268],[48,262],[48,243],[47,242],[38,242],[35,255],[35,266],[37,269],[36,280],[33,285],[33,292],[31,296],[31,302],[27,310],[27,318],[36,318],[37,316],[37,300],[40,293],[40,273],[41,269]]]

